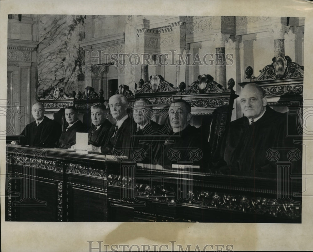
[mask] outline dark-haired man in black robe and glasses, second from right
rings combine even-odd
[[[191,126],[191,106],[184,100],[174,100],[169,107],[172,131],[158,148],[157,163],[171,168],[172,164],[199,165],[206,170],[210,151],[201,129]]]

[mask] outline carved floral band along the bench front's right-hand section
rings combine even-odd
[[[248,195],[235,195],[207,190],[195,189],[187,192],[187,197],[177,198],[180,193],[177,187],[136,183],[131,177],[109,174],[109,186],[134,189],[141,197],[163,203],[175,205],[201,205],[204,208],[217,208],[241,213],[257,213],[274,217],[288,216],[297,219],[301,216],[301,207],[289,200],[273,200],[273,198],[250,197]],[[170,193],[168,193],[170,192]],[[174,196],[172,196],[174,195]]]

